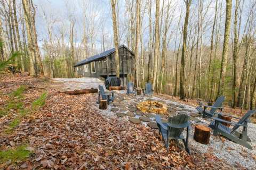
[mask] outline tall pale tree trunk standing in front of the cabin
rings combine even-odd
[[[116,77],[120,77],[119,73],[119,45],[118,45],[118,32],[117,32],[117,21],[116,21],[116,0],[111,0],[112,8],[112,20],[113,20],[113,31],[114,31],[114,42],[115,42],[115,64],[116,64]]]

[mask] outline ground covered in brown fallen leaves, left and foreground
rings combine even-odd
[[[97,95],[66,95],[47,79],[4,76],[0,79],[0,106],[6,107],[8,94],[26,86],[25,107],[47,92],[45,105],[23,116],[6,132],[17,115],[10,109],[0,117],[0,149],[26,146],[28,158],[1,162],[0,169],[241,169],[211,154],[188,155],[180,143],[172,141],[169,153],[157,130],[95,111]]]

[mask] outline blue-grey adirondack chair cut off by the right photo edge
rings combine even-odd
[[[256,110],[248,111],[241,119],[235,116],[225,115],[238,119],[239,121],[237,123],[222,120],[220,117],[224,114],[218,114],[218,117],[211,117],[213,121],[211,122],[209,127],[213,129],[213,135],[218,135],[219,133],[222,136],[230,139],[231,141],[238,143],[239,145],[242,145],[248,149],[252,149],[252,146],[247,142],[250,141],[250,139],[247,137],[247,122],[249,122],[249,118],[254,113],[256,113]],[[230,129],[221,123],[228,123],[234,126]],[[239,133],[237,131],[240,126],[243,127],[242,133]]]

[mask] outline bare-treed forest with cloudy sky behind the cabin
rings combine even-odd
[[[255,0],[3,0],[0,42],[1,63],[17,54],[18,70],[48,78],[75,78],[75,63],[125,44],[140,88],[256,107]]]

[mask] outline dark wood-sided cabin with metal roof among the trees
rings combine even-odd
[[[116,49],[112,48],[98,55],[91,56],[74,65],[78,77],[107,78],[116,76]],[[119,67],[122,84],[127,83],[127,77],[134,77],[134,53],[125,45],[119,46]]]

